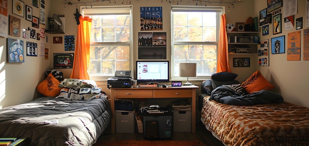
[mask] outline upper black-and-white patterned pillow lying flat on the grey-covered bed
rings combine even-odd
[[[80,79],[64,79],[60,84],[60,88],[93,88],[97,84],[93,80],[80,80]]]

